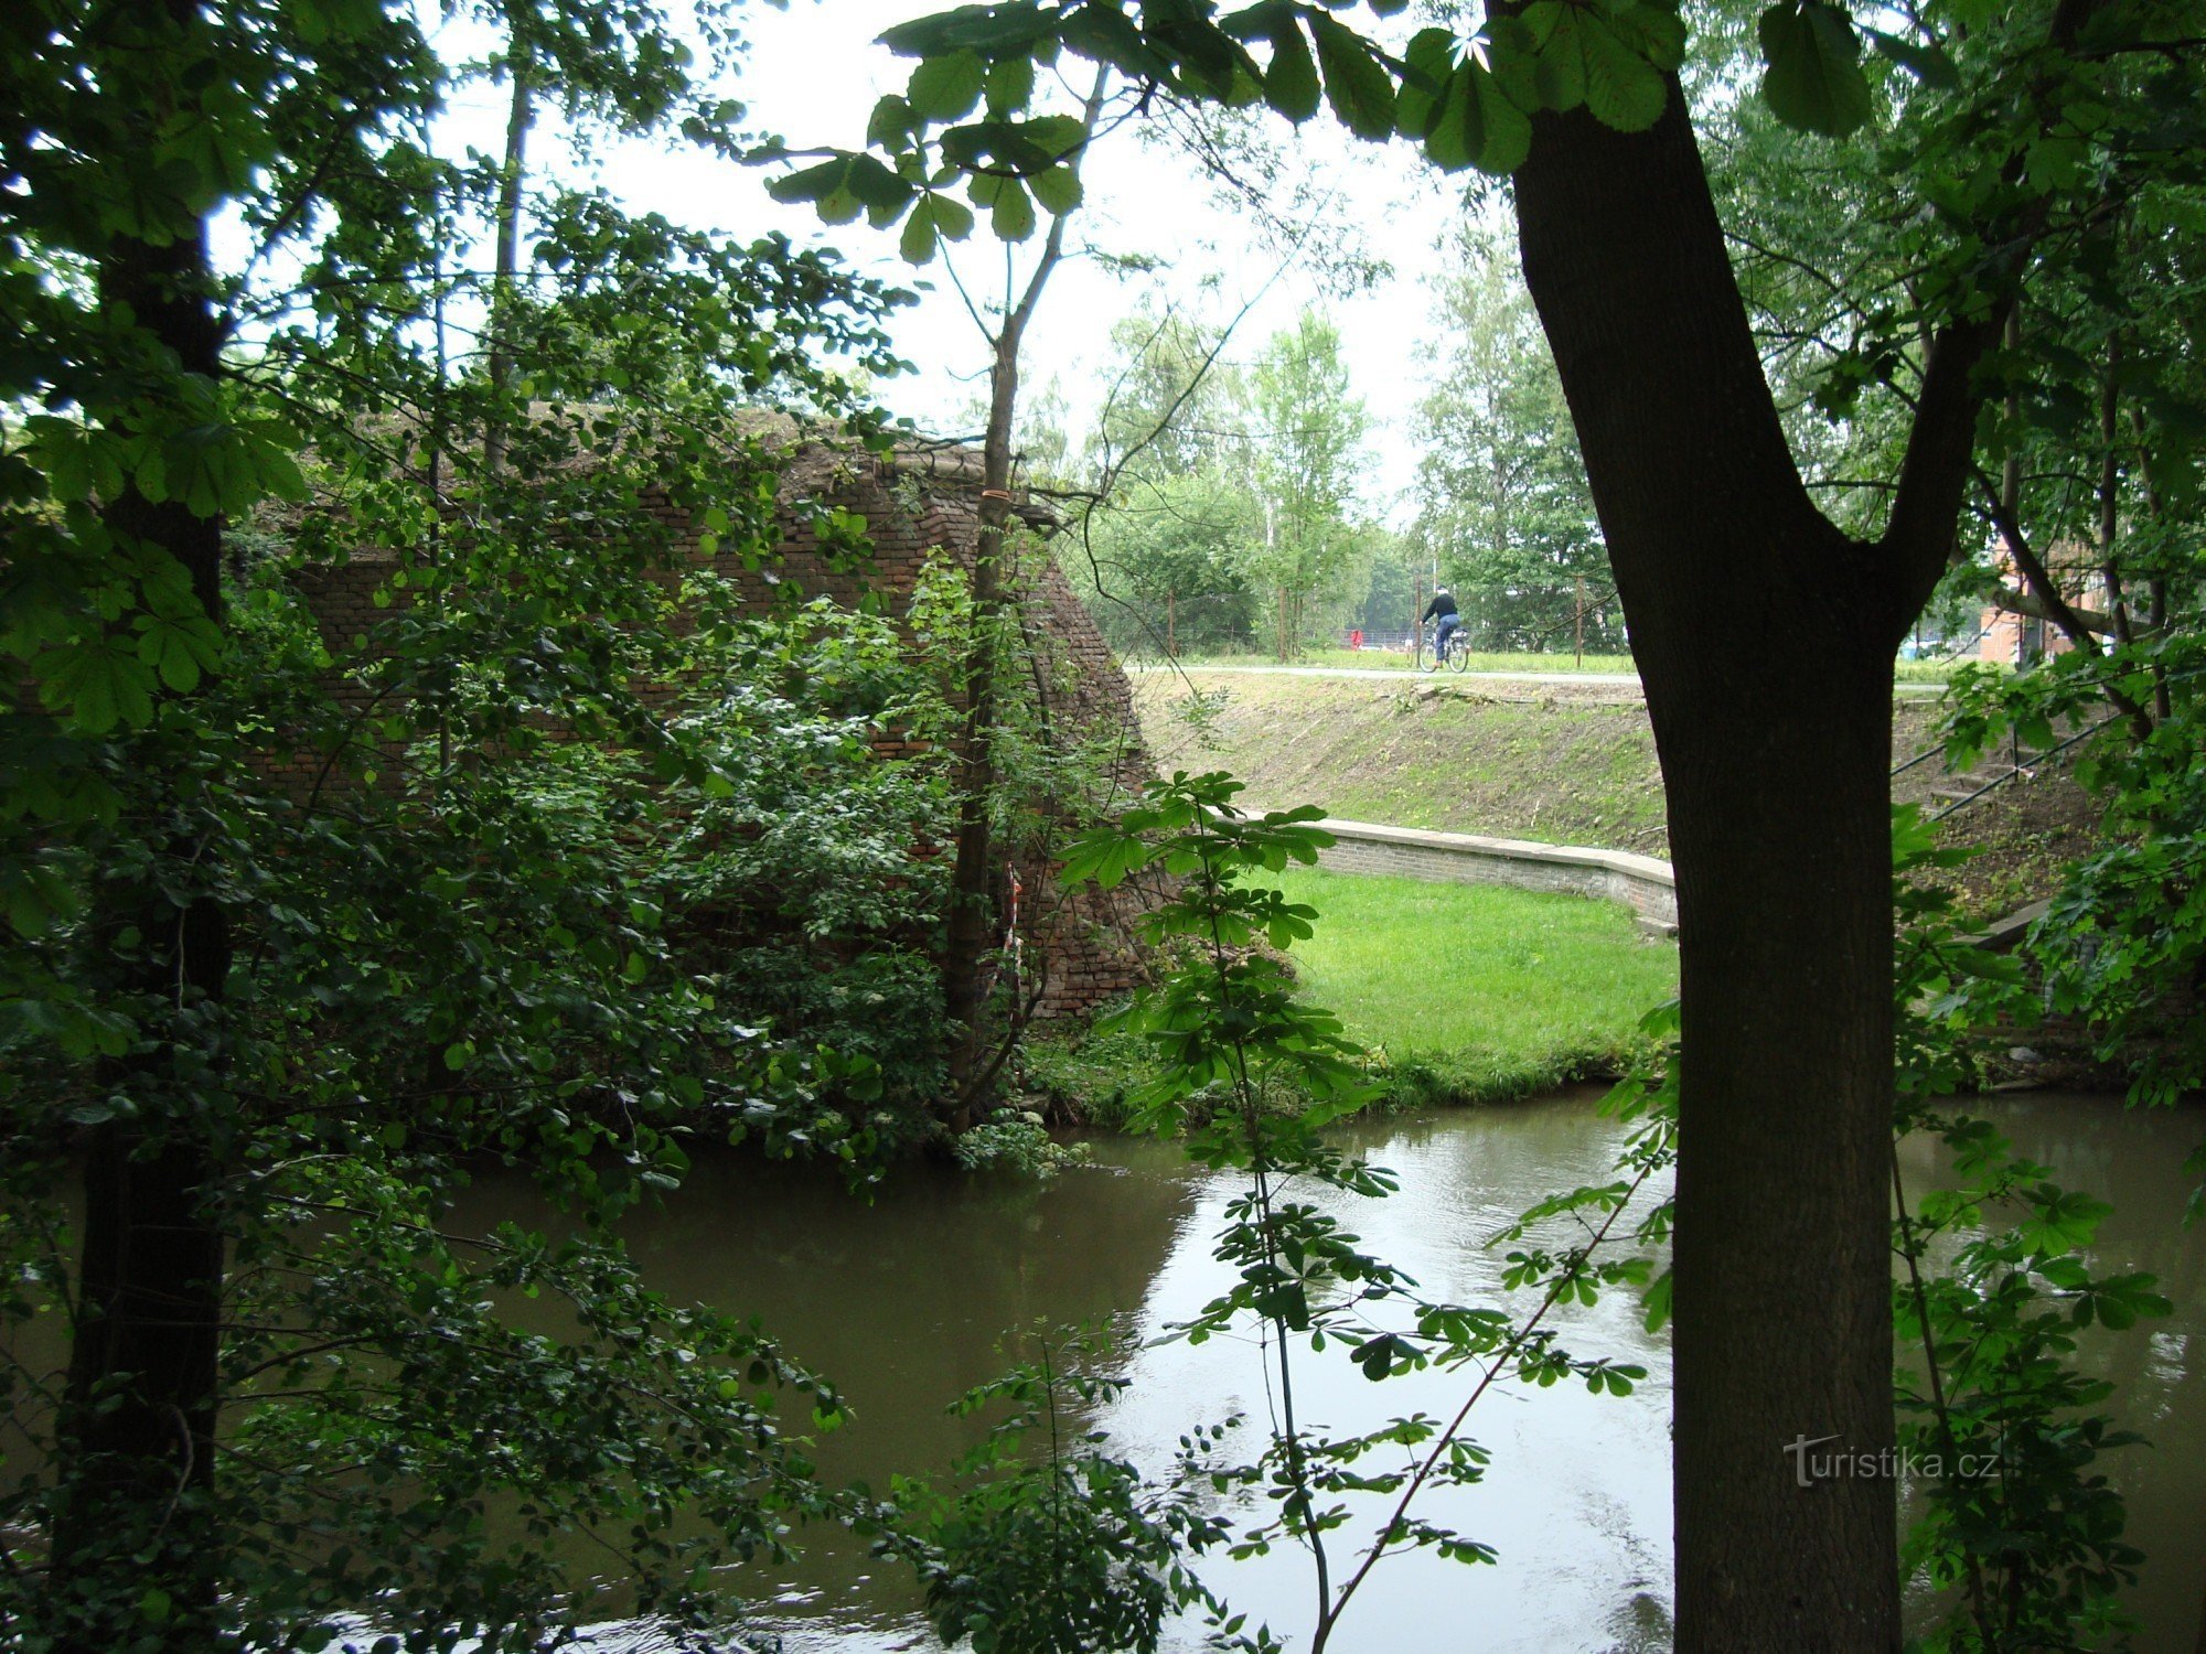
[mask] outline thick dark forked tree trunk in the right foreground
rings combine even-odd
[[[1886,770],[1937,571],[1809,503],[1674,84],[1650,132],[1542,117],[1516,203],[1677,858],[1677,1647],[1897,1647]],[[1866,1473],[1798,1486],[1802,1438]]]

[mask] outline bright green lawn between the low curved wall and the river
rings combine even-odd
[[[1392,1107],[1504,1103],[1613,1067],[1677,992],[1677,946],[1613,902],[1491,884],[1291,871],[1317,909],[1295,948],[1313,1003],[1372,1048]],[[1143,1054],[1125,1037],[1037,1043],[1026,1083],[1061,1116],[1118,1125]]]

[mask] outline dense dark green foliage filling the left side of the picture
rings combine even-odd
[[[732,117],[655,13],[514,29],[510,66],[598,119]],[[882,1063],[759,1017],[668,858],[852,942],[918,915],[860,887],[904,887],[887,845],[931,796],[849,761],[880,637],[739,626],[653,507],[761,562],[783,434],[726,406],[865,441],[818,357],[889,366],[893,300],[540,185],[501,384],[452,340],[503,179],[435,150],[454,71],[413,11],[33,4],[0,68],[0,1319],[75,1339],[62,1383],[0,1381],[0,1617],[207,1650],[719,1625],[726,1564],[836,1508],[792,1422],[838,1414],[754,1328],[644,1292],[607,1224],[699,1118],[863,1164]],[[216,212],[258,243],[236,269]],[[302,591],[349,556],[357,646]],[[790,695],[777,651],[856,699]],[[818,836],[807,884],[746,840],[777,809]],[[485,1158],[580,1237],[446,1233]],[[148,1308],[192,1253],[212,1279]],[[563,1308],[532,1325],[534,1295]],[[609,1546],[609,1597],[558,1533]]]

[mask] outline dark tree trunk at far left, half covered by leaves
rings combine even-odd
[[[117,243],[101,298],[128,304],[185,373],[221,370],[205,232],[168,245]],[[176,501],[124,494],[108,527],[176,558],[205,611],[221,615],[223,527]],[[170,814],[159,781],[154,807]],[[95,933],[137,931],[119,984],[154,1006],[146,1050],[110,1063],[101,1089],[130,1114],[93,1129],[84,1162],[84,1253],[62,1414],[66,1489],[53,1528],[57,1647],[205,1650],[214,1645],[221,1542],[210,1519],[223,1235],[205,1083],[218,1065],[212,1008],[229,970],[229,931],[192,842],[95,893]],[[148,1603],[157,1612],[148,1617]]]

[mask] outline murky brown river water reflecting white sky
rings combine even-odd
[[[2102,1268],[2144,1268],[2175,1299],[2168,1321],[2098,1334],[2085,1361],[2120,1385],[2149,1449],[2113,1456],[2131,1537],[2151,1557],[2133,1594],[2144,1654],[2191,1654],[2206,1579],[2206,1231],[2180,1228],[2184,1156],[2206,1114],[2133,1114],[2109,1098],[1992,1100],[2016,1145],[2063,1186],[2116,1202],[2096,1248]],[[1606,1180],[1617,1127],[1586,1098],[1372,1123],[1357,1147],[1401,1173],[1388,1200],[1324,1195],[1370,1250],[1427,1295],[1498,1303],[1500,1259],[1485,1239],[1538,1195]],[[792,1352],[832,1374],[856,1422],[823,1442],[823,1469],[880,1489],[891,1469],[940,1469],[971,1442],[944,1416],[962,1389],[1002,1370],[997,1345],[1035,1323],[1123,1317],[1136,1347],[1132,1389],[1099,1420],[1132,1458],[1165,1467],[1198,1420],[1268,1420],[1253,1343],[1156,1343],[1220,1290],[1209,1255],[1235,1184],[1191,1171],[1156,1142],[1099,1140],[1096,1167],[1037,1186],[949,1171],[900,1173],[871,1206],[801,1169],[726,1158],[697,1169],[675,1202],[633,1224],[653,1284],[759,1314]],[[1930,1186],[1932,1151],[1913,1153],[1913,1189]],[[525,1217],[521,1186],[492,1186],[472,1220]],[[1337,1647],[1551,1650],[1668,1647],[1668,1336],[1648,1336],[1626,1297],[1579,1310],[1566,1345],[1648,1367],[1628,1398],[1582,1385],[1498,1385],[1469,1433],[1493,1453],[1485,1484],[1429,1493],[1427,1519],[1493,1544],[1491,1568],[1405,1555],[1383,1561],[1341,1625]],[[1341,1431],[1416,1409],[1452,1414],[1463,1374],[1372,1385],[1346,1358],[1299,1356],[1304,1418]],[[1337,1557],[1354,1546],[1341,1542]],[[1291,1645],[1310,1621],[1308,1559],[1295,1548],[1207,1572],[1238,1610]],[[792,1579],[759,1579],[761,1617],[788,1650],[876,1654],[933,1650],[904,1579],[821,1535]],[[1180,1647],[1193,1647],[1189,1630]]]

